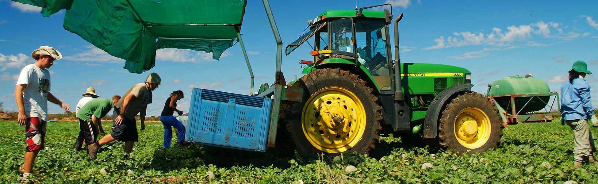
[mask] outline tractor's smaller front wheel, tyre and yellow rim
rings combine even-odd
[[[496,148],[502,137],[501,116],[487,97],[471,92],[451,100],[443,111],[440,146],[460,153]]]

